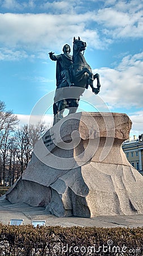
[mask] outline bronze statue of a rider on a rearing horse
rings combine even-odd
[[[90,85],[92,92],[99,93],[100,82],[99,74],[93,75],[92,69],[86,63],[83,52],[85,51],[86,43],[80,38],[73,38],[73,55],[70,55],[71,48],[68,44],[63,47],[63,52],[55,56],[53,52],[49,52],[51,60],[57,61],[57,89],[54,97],[54,124],[63,118],[65,109],[69,109],[69,113],[75,113],[78,106],[80,96],[88,89]],[[97,88],[94,88],[93,81],[97,79]]]

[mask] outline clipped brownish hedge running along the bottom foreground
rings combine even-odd
[[[0,224],[0,255],[143,255],[143,228]]]

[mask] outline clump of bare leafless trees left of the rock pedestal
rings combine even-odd
[[[45,123],[18,127],[18,117],[0,101],[0,184],[12,185],[31,159],[34,144],[44,135]]]

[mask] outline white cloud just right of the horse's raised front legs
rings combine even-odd
[[[111,109],[142,108],[143,95],[143,52],[126,56],[116,69],[93,70],[101,76],[100,96]]]

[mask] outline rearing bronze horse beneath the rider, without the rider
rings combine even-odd
[[[86,43],[78,39],[73,38],[73,64],[70,67],[72,86],[69,87],[67,82],[61,82],[58,86],[54,97],[54,124],[63,118],[63,112],[65,109],[69,109],[69,113],[75,113],[78,106],[80,96],[84,93],[85,89],[88,89],[90,85],[92,92],[99,93],[100,82],[99,74],[93,75],[92,69],[89,64],[86,63],[83,51],[85,51]],[[93,81],[97,79],[97,88],[94,88]],[[67,89],[68,87],[68,89]]]

